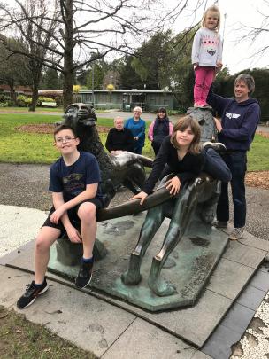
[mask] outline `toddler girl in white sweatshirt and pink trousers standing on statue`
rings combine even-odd
[[[196,107],[208,106],[206,98],[216,70],[222,67],[222,43],[219,35],[220,12],[212,5],[205,12],[202,27],[196,32],[191,61],[195,69],[194,99]]]

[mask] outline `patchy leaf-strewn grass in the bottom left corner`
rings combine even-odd
[[[0,356],[26,359],[96,359],[40,324],[0,306]]]

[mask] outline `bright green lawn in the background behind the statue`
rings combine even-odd
[[[0,161],[13,163],[45,163],[50,164],[58,158],[58,152],[53,146],[51,134],[27,133],[19,131],[18,127],[26,124],[54,123],[61,116],[35,113],[0,113]],[[113,126],[113,119],[99,118],[97,125]],[[150,122],[146,122],[148,132]],[[106,134],[100,133],[105,143]],[[269,139],[256,135],[248,153],[248,171],[269,170],[268,156]],[[150,141],[146,138],[143,155],[154,158]]]

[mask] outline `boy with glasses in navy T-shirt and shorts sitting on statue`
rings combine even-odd
[[[26,308],[49,289],[45,273],[50,259],[50,246],[66,232],[73,243],[82,243],[81,268],[75,285],[89,284],[93,270],[93,247],[96,239],[96,210],[104,207],[99,189],[100,170],[94,155],[79,152],[80,139],[74,130],[60,125],[54,131],[55,146],[61,157],[50,168],[50,191],[53,207],[35,242],[35,278],[19,298],[18,308]],[[81,232],[73,221],[80,220]]]

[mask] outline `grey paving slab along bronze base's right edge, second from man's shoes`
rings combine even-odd
[[[235,300],[254,272],[253,268],[223,258],[219,261],[207,288],[214,293]]]

